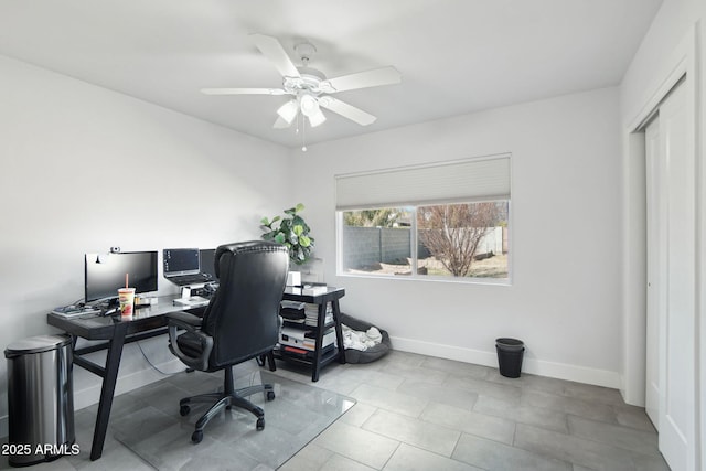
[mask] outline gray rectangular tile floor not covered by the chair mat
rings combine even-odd
[[[310,383],[308,372],[281,362],[277,374]],[[404,352],[328,366],[315,386],[357,404],[281,471],[668,470],[644,409],[625,405],[616,389],[525,374],[510,379],[496,368]],[[93,430],[93,409],[76,414],[79,441],[89,442],[81,435]],[[32,469],[152,468],[109,436],[96,462],[62,458]]]

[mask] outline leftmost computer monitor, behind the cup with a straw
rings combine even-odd
[[[157,291],[157,251],[86,254],[85,302],[118,297],[128,275],[136,293]]]

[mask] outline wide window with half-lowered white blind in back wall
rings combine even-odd
[[[341,275],[510,278],[509,156],[339,176],[336,207]]]

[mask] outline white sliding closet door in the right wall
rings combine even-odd
[[[656,309],[657,317],[656,425],[660,451],[674,470],[693,470],[696,457],[696,194],[691,109],[683,86],[660,105],[659,156],[654,156],[659,162],[652,167],[657,174],[652,175],[654,194],[648,199],[650,217],[656,217],[656,228],[654,222],[648,226],[649,247],[655,246],[648,248],[648,265],[656,270],[648,290],[649,315]],[[653,322],[648,329],[654,328]]]

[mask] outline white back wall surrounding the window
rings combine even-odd
[[[384,119],[382,117],[381,119]],[[436,120],[292,151],[342,310],[389,331],[397,349],[496,365],[515,336],[523,370],[618,386],[621,160],[617,88]],[[334,175],[512,153],[512,286],[335,276]],[[548,238],[546,227],[560,226]]]

